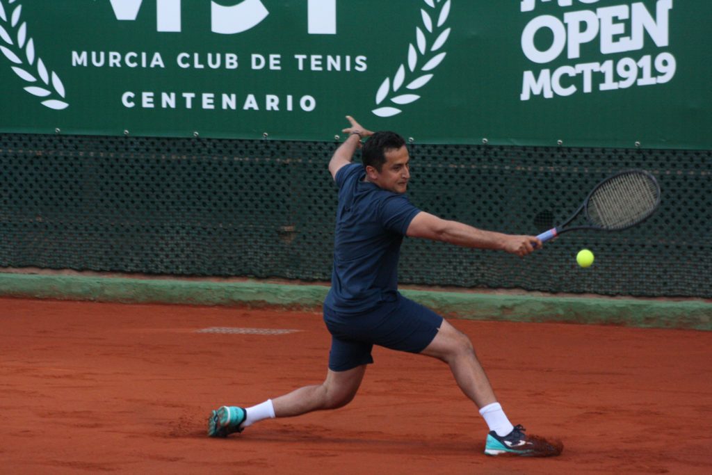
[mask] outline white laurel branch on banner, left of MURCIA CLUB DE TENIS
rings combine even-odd
[[[9,9],[12,9],[12,4],[16,3],[17,0],[6,0]],[[35,43],[32,38],[27,38],[27,24],[22,22],[19,28],[16,28],[20,24],[20,16],[22,14],[22,5],[17,2],[17,5],[12,9],[12,13],[9,16],[6,14],[5,5],[3,0],[0,0],[0,38],[8,46],[2,46],[0,44],[0,51],[8,58],[12,63],[17,66],[12,66],[12,71],[15,71],[16,75],[19,75],[21,79],[28,83],[37,83],[39,85],[29,85],[24,90],[32,95],[36,95],[39,98],[46,98],[48,96],[56,93],[61,98],[65,98],[65,90],[62,81],[59,76],[54,71],[47,71],[42,58],[37,57],[37,62],[35,63]],[[14,43],[13,36],[10,33],[14,33],[14,37],[17,43]],[[24,61],[26,58],[27,61]],[[36,69],[36,74],[39,79],[44,83],[39,83],[38,78],[35,77],[33,73]],[[50,86],[50,79],[52,84]],[[51,89],[49,89],[51,88]],[[42,105],[55,110],[62,110],[68,107],[68,103],[59,99],[47,99],[42,101]]]

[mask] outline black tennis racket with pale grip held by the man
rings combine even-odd
[[[597,184],[569,219],[537,237],[546,242],[580,229],[620,231],[648,219],[659,204],[660,186],[652,174],[637,169],[618,172]],[[585,224],[569,226],[580,214]]]

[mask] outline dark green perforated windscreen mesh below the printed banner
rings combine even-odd
[[[328,281],[337,145],[0,135],[0,267]],[[406,239],[401,283],[712,298],[710,151],[410,150],[411,201],[483,229],[538,234],[622,169],[648,169],[662,198],[640,226],[566,234],[523,259]]]

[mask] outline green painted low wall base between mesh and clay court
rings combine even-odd
[[[318,310],[328,290],[326,286],[317,285],[0,273],[0,296],[80,301],[281,306]],[[512,296],[415,290],[403,290],[402,293],[442,315],[473,320],[712,330],[712,303],[708,301]]]

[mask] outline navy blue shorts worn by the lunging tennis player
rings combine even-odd
[[[400,294],[364,313],[340,313],[324,307],[331,333],[329,369],[346,371],[373,362],[373,345],[420,353],[438,333],[443,318]]]

